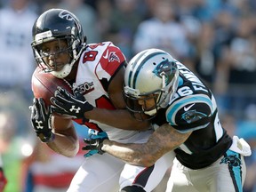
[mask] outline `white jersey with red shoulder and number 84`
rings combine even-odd
[[[84,98],[93,107],[115,109],[108,96],[108,84],[116,71],[124,66],[124,60],[124,54],[111,42],[88,44],[79,60],[74,89],[82,90]],[[76,122],[82,124],[79,120]],[[148,132],[126,131],[93,120],[84,124],[93,130],[107,132],[109,140],[140,142],[145,141],[140,138],[146,135],[148,138]]]

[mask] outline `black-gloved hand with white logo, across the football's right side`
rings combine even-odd
[[[84,113],[93,109],[80,92],[76,91],[75,95],[72,95],[61,87],[57,88],[51,102],[54,104],[52,112],[73,118],[84,118]]]

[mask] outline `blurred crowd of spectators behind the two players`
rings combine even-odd
[[[31,182],[34,178],[43,186],[45,172],[60,175],[67,164],[75,164],[66,169],[69,175],[81,164],[79,155],[75,161],[47,151],[29,121],[36,68],[31,29],[50,8],[75,13],[87,43],[112,41],[127,60],[141,50],[160,48],[201,76],[216,96],[225,128],[251,144],[244,192],[256,191],[255,0],[0,0],[0,154],[9,181],[4,192],[65,191],[64,183],[45,190]]]

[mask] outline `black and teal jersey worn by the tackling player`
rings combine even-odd
[[[159,109],[153,124],[170,124],[180,133],[191,132],[174,151],[181,164],[204,168],[222,156],[232,144],[222,128],[212,92],[188,68],[177,62],[179,85],[166,108]]]

